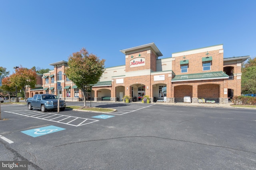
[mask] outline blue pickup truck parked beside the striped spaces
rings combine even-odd
[[[29,110],[33,108],[41,109],[42,112],[47,110],[58,109],[58,97],[53,94],[35,94],[32,98],[28,98],[27,106]],[[66,102],[60,100],[60,110],[66,108]]]

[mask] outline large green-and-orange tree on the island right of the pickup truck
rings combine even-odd
[[[85,48],[68,57],[65,74],[82,91],[84,106],[86,106],[86,90],[100,80],[105,70],[104,63],[104,59],[100,60],[96,55],[89,54]]]

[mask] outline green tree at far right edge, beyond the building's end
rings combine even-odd
[[[243,94],[256,93],[256,57],[250,58],[242,68],[241,88]]]

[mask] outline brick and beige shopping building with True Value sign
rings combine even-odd
[[[190,96],[226,104],[228,98],[241,94],[241,67],[250,56],[223,58],[223,45],[214,45],[172,53],[172,57],[158,59],[162,53],[154,43],[121,50],[125,65],[105,69],[100,81],[86,93],[87,100],[122,101],[124,95],[141,101],[144,95],[151,102],[182,102]],[[50,64],[54,70],[42,76],[42,89],[36,93],[56,94],[67,101],[77,101],[82,92],[65,75],[66,61]],[[57,82],[61,89],[57,90]],[[90,96],[91,95],[91,96]]]

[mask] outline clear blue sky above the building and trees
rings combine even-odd
[[[50,68],[85,47],[125,64],[122,49],[154,42],[163,56],[224,44],[256,56],[256,0],[0,0],[0,66]]]

